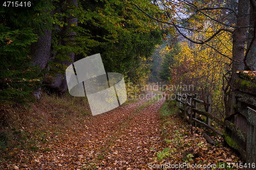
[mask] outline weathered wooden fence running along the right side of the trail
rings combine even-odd
[[[221,135],[231,148],[234,148],[235,150],[237,150],[247,164],[252,165],[253,163],[254,164],[256,163],[256,144],[255,144],[256,111],[255,110],[253,110],[248,106],[246,106],[246,110],[245,110],[245,108],[242,107],[245,105],[242,104],[241,102],[240,103],[238,102],[238,105],[236,105],[236,109],[239,112],[234,113],[234,115],[237,115],[237,117],[239,117],[239,114],[241,113],[245,117],[245,120],[247,120],[247,128],[244,130],[243,126],[239,126],[240,124],[238,123],[239,120],[241,120],[241,116],[240,118],[233,118],[232,120],[225,119],[224,121],[222,121],[217,117],[211,115],[210,102],[206,103],[205,101],[198,100],[197,94],[176,93],[176,100],[179,102],[178,105],[179,105],[179,109],[182,111],[182,117],[190,125],[196,126],[196,124],[198,123],[209,128],[215,133]],[[207,101],[210,101],[210,100],[208,99]],[[203,109],[204,111],[198,109],[199,105],[202,106],[201,108],[204,108]],[[256,103],[253,103],[253,105],[256,106]],[[197,116],[200,114],[206,116],[206,123],[197,119]],[[226,134],[212,127],[210,125],[211,119],[214,122],[218,123],[219,125],[226,127],[226,129],[230,130],[231,133]],[[235,120],[237,120],[237,122]],[[214,141],[212,141],[207,135],[205,134],[203,135],[209,143],[214,144]],[[247,169],[254,169],[254,168],[253,166],[250,166],[250,167],[247,166]]]

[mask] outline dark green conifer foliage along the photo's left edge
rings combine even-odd
[[[22,1],[17,1],[22,2]],[[48,9],[51,1],[33,1],[31,7],[0,6],[0,104],[31,101],[31,92],[40,81],[32,66],[30,45],[44,29],[51,28]]]

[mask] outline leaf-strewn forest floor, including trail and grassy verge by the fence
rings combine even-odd
[[[164,99],[156,93],[148,91],[143,100],[107,113],[66,117],[56,126],[45,124],[50,126],[46,136],[39,134],[39,142],[30,140],[28,150],[13,149],[9,153],[16,154],[15,162],[6,161],[4,166],[0,164],[0,169],[160,169],[155,165],[166,167],[166,163],[168,169],[225,169],[231,162],[244,163],[233,151],[223,147],[220,136],[214,136],[216,145],[208,144],[203,129],[190,128],[177,114],[175,103],[164,104]],[[54,113],[58,107],[42,106],[53,109]],[[62,120],[61,114],[65,112],[53,115]],[[64,127],[61,129],[60,125]],[[180,167],[180,163],[186,162],[201,167]]]

